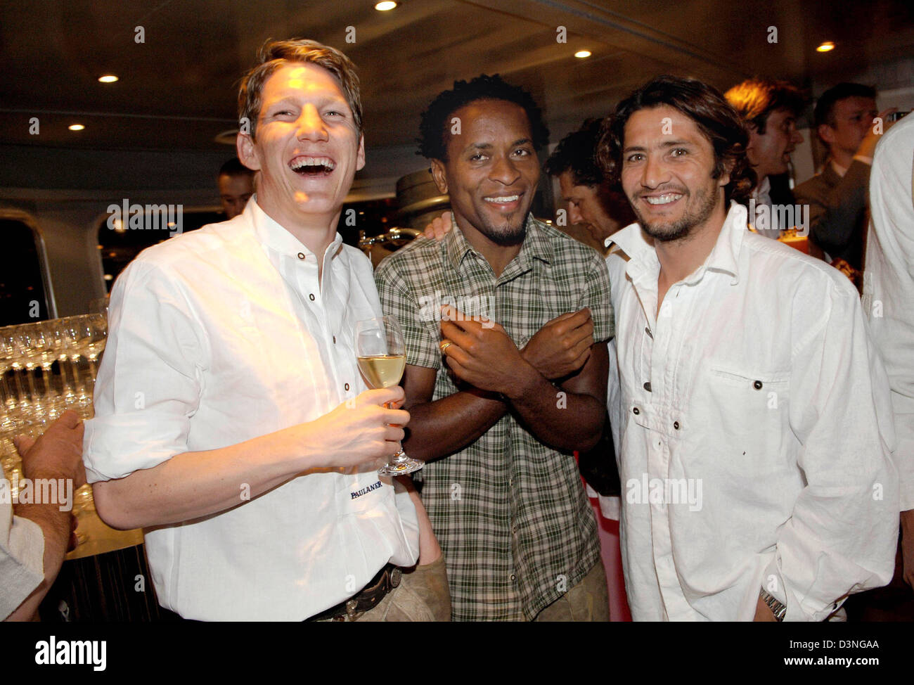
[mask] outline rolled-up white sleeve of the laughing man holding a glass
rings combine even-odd
[[[134,261],[114,284],[95,417],[83,443],[90,483],[187,451],[206,341],[177,283],[161,265]]]

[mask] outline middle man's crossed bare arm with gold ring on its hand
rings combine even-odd
[[[441,333],[453,342],[445,355],[458,378],[504,395],[527,430],[544,444],[564,452],[583,452],[597,444],[609,375],[605,343],[590,348],[584,367],[557,391],[523,358],[501,326],[486,327],[465,320],[459,312],[455,315],[451,318],[456,320],[441,321]]]

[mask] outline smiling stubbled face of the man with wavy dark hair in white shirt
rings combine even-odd
[[[622,189],[655,240],[680,240],[709,221],[723,225],[729,174],[712,178],[714,166],[711,142],[673,107],[638,110],[625,123]]]

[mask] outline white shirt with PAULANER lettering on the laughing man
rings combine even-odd
[[[86,423],[90,482],[313,421],[365,390],[354,328],[381,316],[367,257],[317,259],[256,199],[142,252],[114,284]],[[145,531],[159,601],[186,618],[302,620],[416,562],[408,494],[374,468],[298,476],[239,507]]]

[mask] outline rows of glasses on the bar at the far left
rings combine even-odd
[[[22,477],[14,435],[37,438],[68,409],[84,419],[92,416],[95,372],[107,333],[104,314],[0,327],[0,461],[6,477],[16,472]],[[79,492],[77,504],[90,499],[90,491]]]

